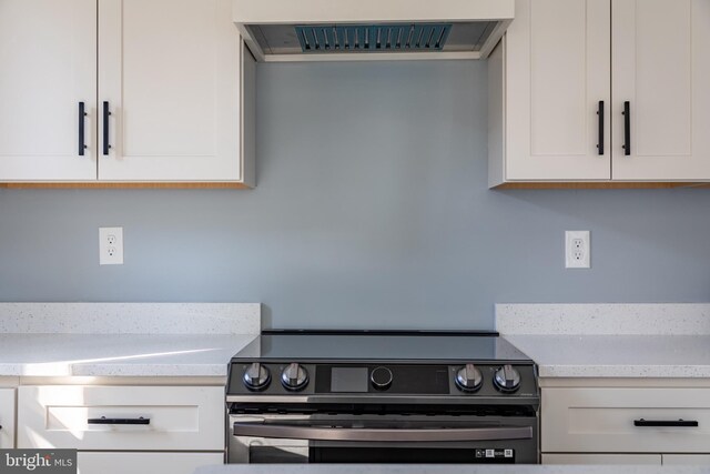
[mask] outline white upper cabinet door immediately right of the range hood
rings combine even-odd
[[[609,180],[610,0],[518,0],[515,14],[505,179]]]

